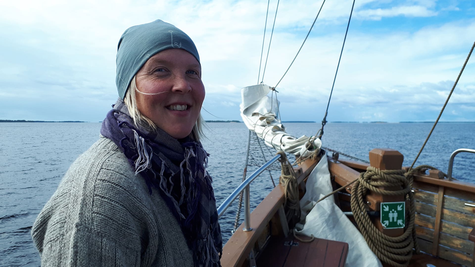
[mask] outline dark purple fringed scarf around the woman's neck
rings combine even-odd
[[[158,190],[193,252],[195,266],[221,266],[221,230],[208,154],[201,143],[171,137],[161,129],[135,127],[127,106],[118,100],[102,122],[101,134],[114,141],[152,190]]]

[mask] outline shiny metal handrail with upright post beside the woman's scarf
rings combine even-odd
[[[254,181],[254,179],[259,176],[262,172],[264,172],[270,165],[280,159],[280,154],[276,154],[270,161],[264,163],[259,169],[253,172],[246,180],[244,180],[229,196],[226,200],[218,208],[218,218],[223,215],[224,211],[228,209],[231,203],[239,196],[239,194],[244,191],[244,231],[250,231],[251,228],[251,212],[250,212],[250,200],[249,200],[249,184]]]

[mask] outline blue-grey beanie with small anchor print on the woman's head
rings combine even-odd
[[[180,48],[196,57],[198,50],[191,38],[175,26],[157,19],[126,29],[117,47],[115,84],[123,99],[133,76],[153,55],[163,50]]]

